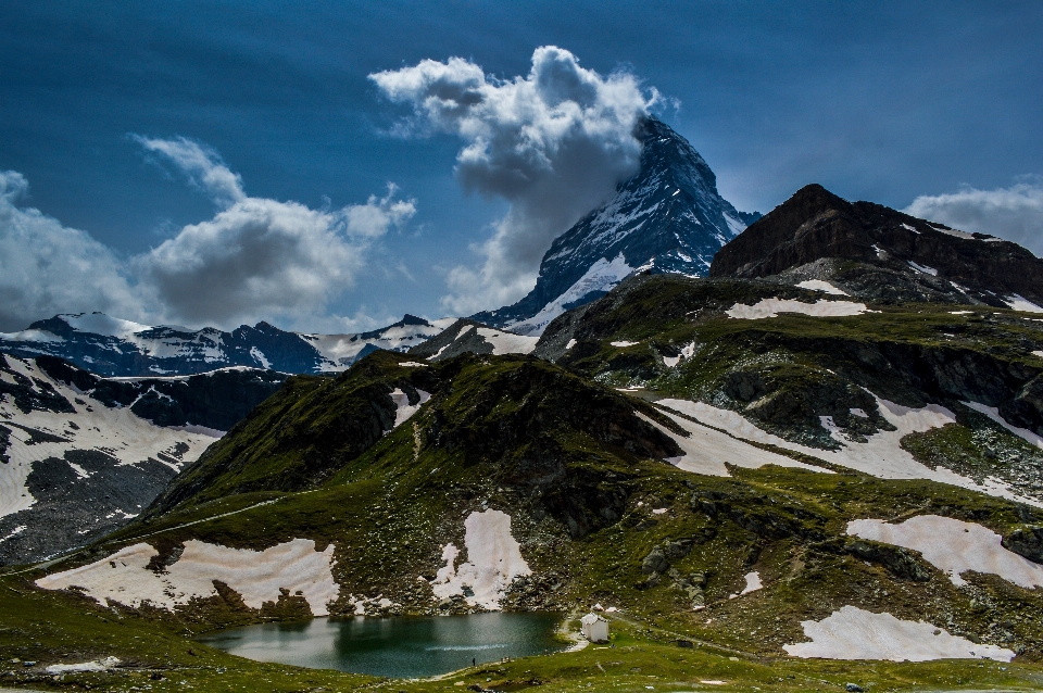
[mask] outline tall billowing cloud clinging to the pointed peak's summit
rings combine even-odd
[[[391,101],[411,106],[406,134],[463,140],[456,176],[466,190],[510,202],[477,250],[480,267],[449,275],[447,307],[497,307],[525,294],[551,241],[638,171],[638,119],[658,99],[628,72],[602,76],[567,50],[532,53],[528,75],[499,79],[461,58],[425,60],[369,75]]]

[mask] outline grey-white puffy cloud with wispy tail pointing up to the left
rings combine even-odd
[[[201,144],[138,141],[226,205],[134,261],[142,281],[183,322],[230,326],[314,315],[353,284],[368,244],[416,212],[412,200],[395,199],[393,185],[384,198],[331,211],[251,198],[239,176]]]

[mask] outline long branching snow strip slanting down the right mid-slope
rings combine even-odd
[[[833,426],[829,417],[822,417],[822,425],[829,430],[833,440],[841,444],[841,449],[835,451],[792,443],[757,428],[737,412],[722,410],[704,402],[667,399],[659,400],[656,402],[656,405],[680,412],[701,424],[721,429],[739,439],[801,452],[818,459],[872,475],[880,479],[929,479],[940,483],[948,483],[964,489],[970,489],[979,493],[988,493],[996,497],[1008,499],[1035,506],[1041,505],[1040,501],[1020,496],[1011,491],[1007,484],[996,479],[985,479],[982,484],[978,484],[973,479],[963,477],[941,466],[937,469],[931,469],[917,462],[908,451],[903,449],[901,441],[909,433],[919,433],[932,428],[941,428],[946,424],[956,423],[956,415],[939,404],[928,404],[917,410],[877,398],[880,414],[895,427],[895,430],[878,431],[869,436],[865,443],[855,443],[845,439],[840,430]],[[681,419],[675,420],[681,426],[686,426]],[[678,444],[680,444],[682,449],[684,448],[681,440],[678,440]],[[794,466],[795,464],[797,463],[791,461],[789,466]]]

